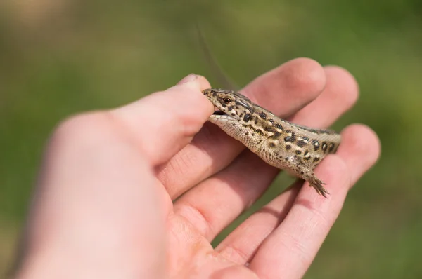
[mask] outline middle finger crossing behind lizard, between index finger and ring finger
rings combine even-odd
[[[356,100],[357,86],[353,84],[354,79],[350,74],[345,74],[347,72],[339,68],[327,69],[326,72],[327,86],[324,92],[303,108],[311,107],[318,112],[318,116],[307,118],[300,110],[298,114],[301,117],[296,119],[298,122],[305,125],[312,123],[316,127],[329,125]],[[336,86],[331,86],[338,83],[332,79],[350,86],[339,93]],[[343,98],[337,95],[343,95]],[[335,109],[326,108],[326,100],[333,100],[330,107]],[[255,154],[244,151],[229,167],[177,200],[174,210],[190,220],[208,240],[212,240],[261,196],[278,173],[278,169],[264,163]]]

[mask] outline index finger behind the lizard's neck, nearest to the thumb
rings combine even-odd
[[[317,97],[325,85],[322,67],[301,58],[283,64],[250,83],[243,93],[275,114],[289,115]],[[159,172],[172,198],[222,170],[245,149],[216,125],[205,123],[198,135]],[[183,177],[181,179],[181,177]]]

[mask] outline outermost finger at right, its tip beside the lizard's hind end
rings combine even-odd
[[[379,141],[369,128],[352,125],[343,131],[343,138],[338,154],[328,156],[316,168],[316,175],[327,182],[331,196],[322,198],[305,183],[286,218],[250,262],[250,268],[260,277],[283,274],[301,278],[340,214],[347,191],[378,159]],[[279,204],[277,199],[270,203],[273,210],[283,205],[283,200]]]

